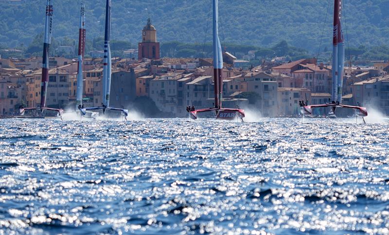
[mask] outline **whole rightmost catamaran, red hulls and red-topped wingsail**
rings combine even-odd
[[[336,108],[352,108],[357,116],[366,117],[368,111],[365,107],[350,106],[342,104],[343,68],[344,68],[344,41],[340,24],[342,13],[342,0],[334,0],[334,32],[333,32],[333,56],[332,56],[332,102],[321,105],[308,105],[304,101],[300,102],[301,113],[312,115],[313,108],[331,107],[329,117],[335,118]],[[363,119],[365,122],[365,120]]]

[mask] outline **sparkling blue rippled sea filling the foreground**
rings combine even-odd
[[[389,234],[389,124],[0,119],[0,234]]]

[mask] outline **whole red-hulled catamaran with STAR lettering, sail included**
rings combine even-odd
[[[218,0],[212,0],[213,9],[213,81],[215,102],[212,108],[188,110],[192,119],[197,119],[198,112],[215,111],[217,119],[233,120],[239,117],[242,122],[245,110],[240,108],[222,108],[223,99],[223,55],[218,35]]]

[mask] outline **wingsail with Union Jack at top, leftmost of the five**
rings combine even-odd
[[[49,47],[52,40],[53,5],[46,0],[45,38],[43,43],[42,84],[40,90],[40,108],[46,107],[47,85],[49,83]],[[43,109],[41,110],[43,111]]]

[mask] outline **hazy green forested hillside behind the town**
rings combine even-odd
[[[44,28],[45,0],[0,0],[0,44],[28,46]],[[53,37],[78,38],[81,0],[53,0]],[[105,0],[84,0],[89,40],[103,36]],[[327,14],[328,12],[328,14]],[[389,44],[389,0],[344,0],[343,31],[352,47]],[[211,0],[112,0],[111,38],[136,45],[148,16],[160,42],[212,40]],[[271,47],[281,40],[314,52],[324,27],[331,47],[333,0],[219,0],[220,39]],[[326,22],[324,24],[324,21]],[[206,33],[207,32],[207,33]]]

